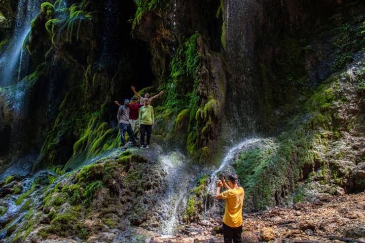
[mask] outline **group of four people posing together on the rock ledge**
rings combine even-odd
[[[125,134],[127,132],[129,142],[132,143],[133,146],[150,148],[152,126],[155,125],[154,109],[151,106],[151,102],[159,97],[163,91],[150,98],[150,93],[145,93],[144,97],[142,97],[135,91],[133,86],[132,90],[137,96],[139,104],[134,97],[131,98],[131,101],[125,99],[124,105],[119,104],[118,101],[114,101],[119,106],[117,118],[120,131],[120,142],[122,148],[126,148]],[[138,133],[140,134],[140,145],[136,142],[136,140],[138,140]],[[144,136],[146,133],[147,143],[144,144]]]

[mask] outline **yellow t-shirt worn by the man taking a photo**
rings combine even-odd
[[[238,189],[230,189],[222,193],[222,197],[226,199],[226,212],[223,216],[223,223],[232,228],[242,225],[242,205],[244,198],[244,190],[242,187]]]

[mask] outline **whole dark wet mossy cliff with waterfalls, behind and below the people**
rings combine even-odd
[[[245,211],[363,191],[364,10],[1,2],[0,238],[130,242],[130,224],[182,232],[223,213],[212,196],[223,164],[246,190]],[[114,101],[131,86],[163,91],[149,151],[120,147]]]

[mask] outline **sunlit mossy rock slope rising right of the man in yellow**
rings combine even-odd
[[[354,183],[363,156],[356,147],[363,141],[357,135],[363,107],[355,84],[345,77],[346,73],[338,73],[327,79],[304,104],[307,113],[234,161],[247,195],[246,209],[310,201],[315,193],[335,194],[337,186],[347,192],[364,189]],[[347,107],[356,107],[356,112]]]

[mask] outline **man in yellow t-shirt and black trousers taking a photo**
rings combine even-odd
[[[228,184],[223,178],[223,182],[218,179],[218,188],[215,199],[226,199],[226,211],[223,216],[223,237],[224,243],[243,243],[242,241],[242,206],[244,190],[237,185],[238,177],[232,173],[228,175]],[[227,191],[221,194],[222,187]]]

